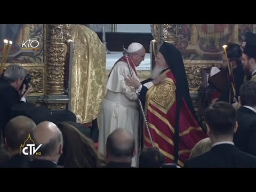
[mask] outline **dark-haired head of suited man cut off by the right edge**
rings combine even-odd
[[[242,106],[256,107],[256,82],[246,81],[239,90],[239,102]]]

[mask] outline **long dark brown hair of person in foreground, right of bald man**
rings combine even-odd
[[[63,135],[63,153],[59,165],[64,167],[100,167],[94,142],[68,122],[58,123]],[[86,128],[86,127],[84,127]]]

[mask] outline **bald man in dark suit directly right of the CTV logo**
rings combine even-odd
[[[62,154],[63,138],[57,125],[47,121],[39,123],[32,132],[32,138],[36,147],[42,146],[38,149],[41,155],[33,155],[29,167],[62,167],[58,165],[58,161]]]

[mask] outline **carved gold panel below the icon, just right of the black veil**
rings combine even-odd
[[[221,61],[200,61],[200,60],[185,60],[185,70],[187,73],[188,86],[190,93],[197,93],[202,85],[201,70],[212,66],[220,67]]]

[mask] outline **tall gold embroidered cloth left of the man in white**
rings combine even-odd
[[[72,25],[74,56],[71,111],[79,123],[97,118],[106,83],[106,52],[98,35],[83,25]]]

